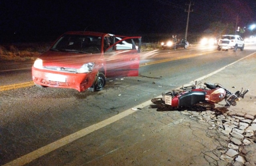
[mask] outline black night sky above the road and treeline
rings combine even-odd
[[[247,27],[256,23],[256,0],[192,0],[188,32],[214,21]],[[1,0],[0,35],[58,37],[66,31],[116,35],[184,33],[187,0]]]

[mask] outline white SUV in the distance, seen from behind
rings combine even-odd
[[[223,35],[218,42],[218,51],[221,49],[233,49],[236,52],[237,49],[243,51],[244,41],[239,35]]]

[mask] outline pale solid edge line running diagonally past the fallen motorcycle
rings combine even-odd
[[[205,79],[207,77],[210,77],[210,76],[220,72],[221,70],[227,68],[228,66],[233,65],[234,63],[237,63],[240,60],[248,58],[249,56],[252,56],[255,53],[247,55],[244,58],[241,58],[241,59],[237,60],[236,62],[230,63],[229,65],[224,66],[223,68],[221,68],[219,70],[216,70],[215,72],[212,72],[212,73],[210,73],[210,74],[208,74],[206,76],[200,77],[200,78],[198,78],[196,80],[199,81],[199,80]],[[191,83],[193,83],[193,82],[191,82]],[[178,87],[177,89],[179,89],[179,88],[180,87]],[[162,96],[158,96],[156,98],[161,98],[161,97]],[[139,104],[139,105],[135,106],[134,108],[144,108],[144,107],[150,105],[151,103],[152,103],[151,100],[148,100],[148,101],[145,101],[142,104]],[[101,121],[101,122],[99,122],[97,124],[94,124],[94,125],[91,125],[89,127],[86,127],[86,128],[84,128],[84,129],[82,129],[82,130],[80,130],[78,132],[75,132],[75,133],[70,134],[70,135],[68,135],[68,136],[66,136],[64,138],[61,138],[61,139],[59,139],[59,140],[57,140],[57,141],[55,141],[53,143],[50,143],[49,145],[43,146],[42,148],[39,148],[36,151],[30,152],[27,155],[24,155],[24,156],[22,156],[22,157],[20,157],[18,159],[13,160],[12,162],[6,163],[3,166],[22,166],[22,165],[25,165],[25,164],[27,164],[29,162],[32,162],[33,160],[35,160],[37,158],[40,158],[41,156],[43,156],[43,155],[45,155],[47,153],[50,153],[50,152],[52,152],[52,151],[54,151],[54,150],[56,150],[56,149],[58,149],[58,148],[60,148],[60,147],[62,147],[64,145],[67,145],[68,143],[73,142],[76,139],[79,139],[79,138],[81,138],[81,137],[83,137],[83,136],[85,136],[85,135],[87,135],[87,134],[89,134],[89,133],[91,133],[93,131],[96,131],[96,130],[102,128],[102,127],[105,127],[106,125],[109,125],[109,124],[111,124],[111,123],[113,123],[115,121],[118,121],[121,118],[124,118],[124,117],[126,117],[126,116],[128,116],[128,115],[130,115],[130,114],[132,114],[132,113],[134,113],[136,111],[137,110],[128,109],[128,110],[126,110],[126,111],[124,111],[124,112],[122,112],[120,114],[117,114],[117,115],[111,117],[111,118],[108,118],[108,119],[106,119],[104,121]]]

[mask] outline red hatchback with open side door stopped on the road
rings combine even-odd
[[[141,37],[89,31],[61,35],[32,66],[38,87],[100,91],[106,77],[138,76]]]

